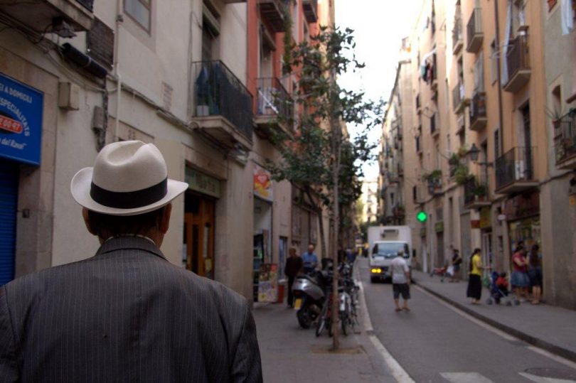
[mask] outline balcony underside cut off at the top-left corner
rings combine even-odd
[[[93,5],[94,0],[0,0],[0,13],[38,33],[54,18],[63,18],[74,31],[90,31]]]

